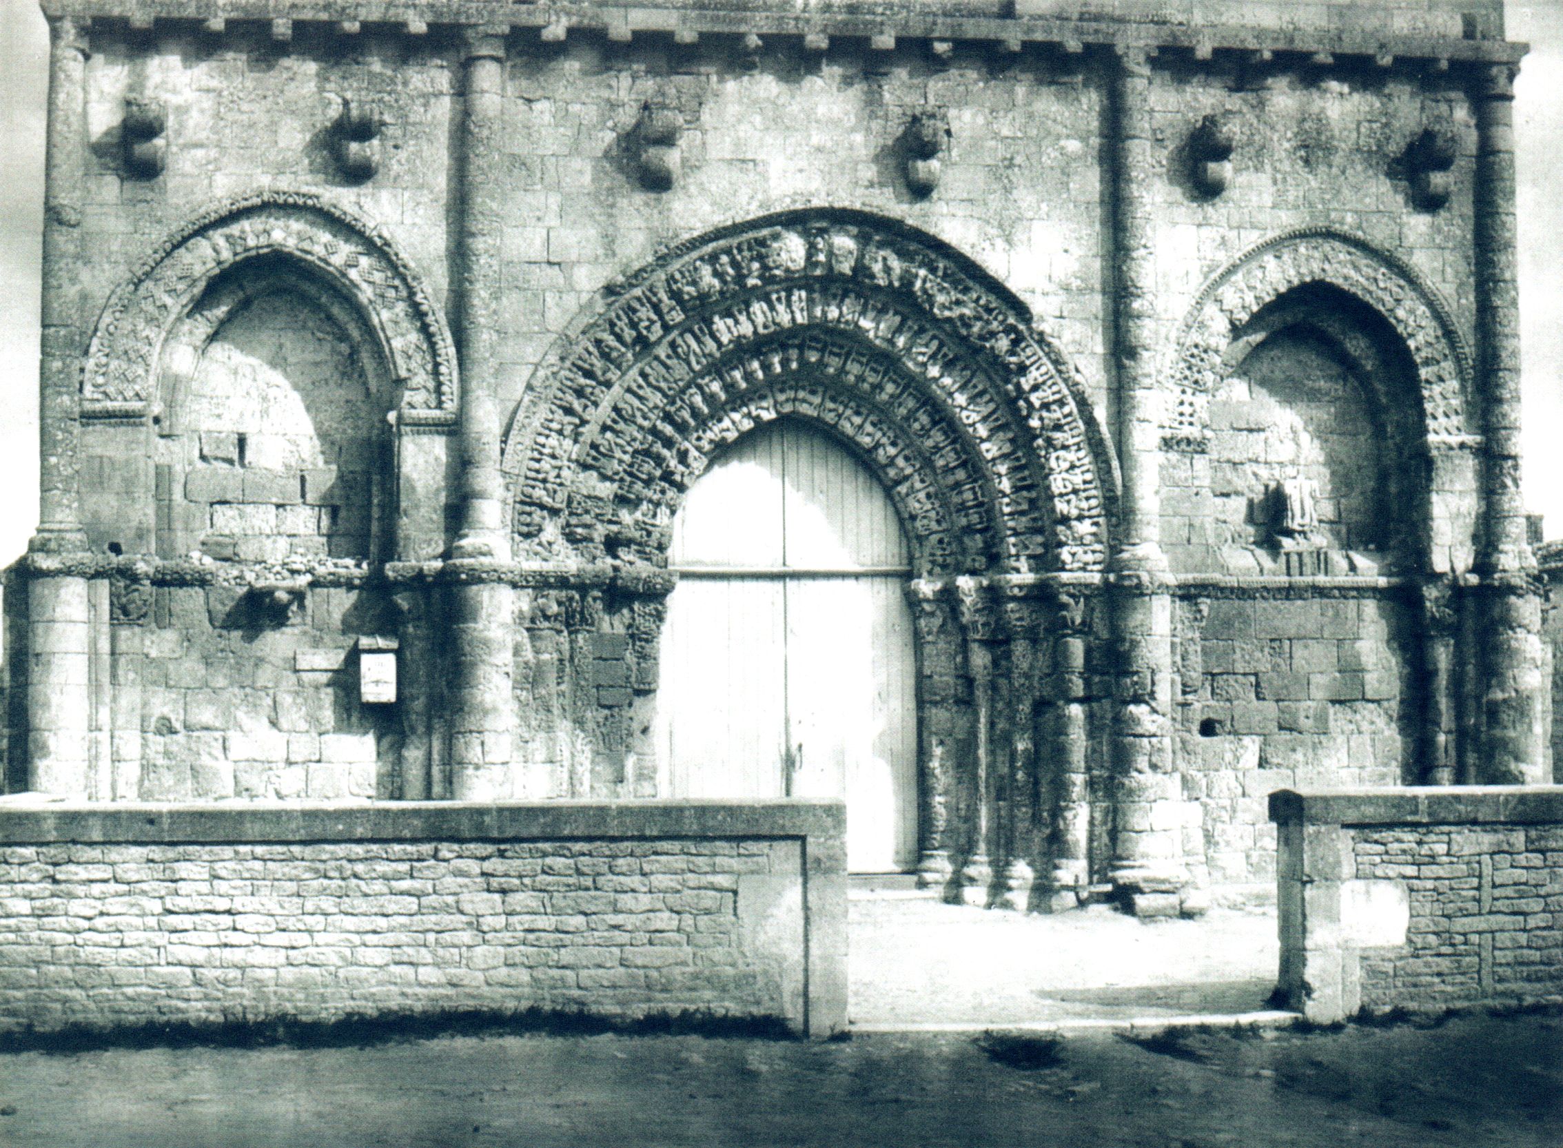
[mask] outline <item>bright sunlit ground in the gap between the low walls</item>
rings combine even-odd
[[[1141,923],[1107,906],[1058,915],[853,895],[855,1026],[1127,1020],[1266,1007],[1275,909]]]

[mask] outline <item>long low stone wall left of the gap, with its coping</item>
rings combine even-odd
[[[846,1026],[830,801],[0,808],[0,1032],[528,1009]]]

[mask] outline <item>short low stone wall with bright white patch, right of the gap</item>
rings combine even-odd
[[[1563,786],[1282,790],[1271,820],[1308,1018],[1563,1000]]]

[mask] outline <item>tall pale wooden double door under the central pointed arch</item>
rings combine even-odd
[[[907,539],[878,481],[788,419],[719,455],[674,519],[656,745],[672,797],[842,797],[847,865],[917,862]]]

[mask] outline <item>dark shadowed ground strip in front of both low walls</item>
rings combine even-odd
[[[1563,1020],[0,1056],[9,1148],[1558,1148]]]

